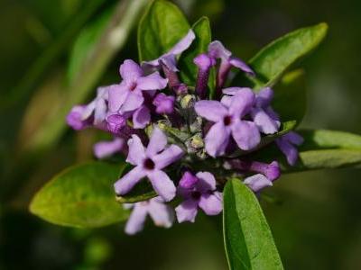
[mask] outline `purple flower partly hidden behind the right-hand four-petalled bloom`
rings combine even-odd
[[[230,103],[232,96],[234,96],[240,89],[239,87],[229,87],[223,89],[222,103]],[[273,134],[280,129],[281,122],[278,115],[273,112],[271,102],[273,99],[273,90],[270,87],[262,89],[255,94],[255,105],[250,114],[258,129],[264,134]]]

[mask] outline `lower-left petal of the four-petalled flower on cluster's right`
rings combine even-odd
[[[230,130],[223,122],[215,123],[207,133],[205,140],[206,151],[209,156],[216,157],[223,155],[229,141]]]

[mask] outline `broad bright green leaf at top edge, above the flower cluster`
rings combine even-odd
[[[139,60],[159,58],[190,30],[180,9],[163,0],[149,4],[138,27]]]

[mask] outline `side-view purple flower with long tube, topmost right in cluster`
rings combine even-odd
[[[244,61],[242,61],[240,58],[232,56],[232,53],[228,49],[226,49],[223,44],[218,40],[209,43],[208,55],[211,58],[220,58],[220,66],[217,76],[218,91],[225,84],[231,67],[237,67],[242,71],[245,71],[245,73],[248,73],[252,76],[255,75],[255,72],[250,67],[248,67]]]

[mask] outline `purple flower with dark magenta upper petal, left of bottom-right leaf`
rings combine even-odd
[[[222,211],[222,193],[216,189],[216,179],[208,172],[192,175],[186,172],[178,187],[184,201],[175,209],[179,222],[196,219],[198,208],[208,215],[218,215]]]

